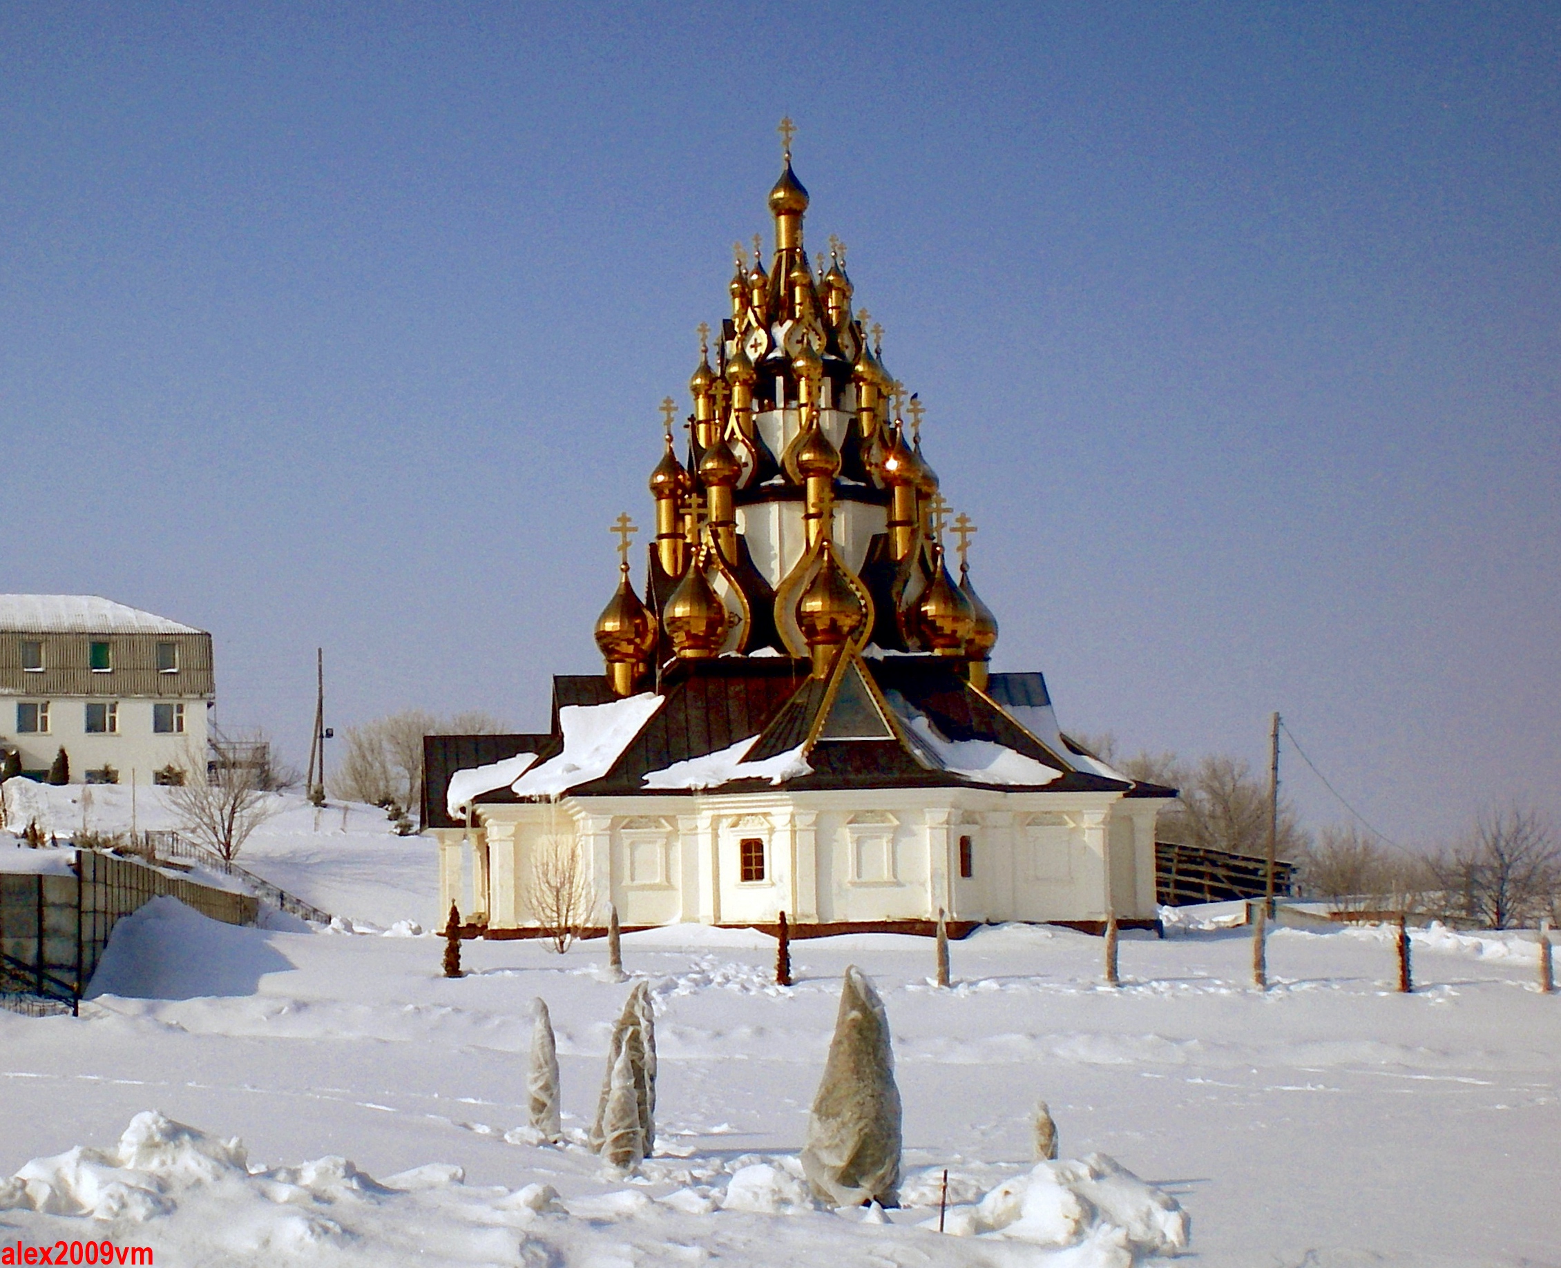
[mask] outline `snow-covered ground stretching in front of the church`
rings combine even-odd
[[[359,920],[432,923],[431,845],[378,811],[347,833],[331,814],[318,834],[308,809],[273,820],[244,861]],[[1268,995],[1246,986],[1244,930],[1124,939],[1119,990],[1099,984],[1101,940],[1065,930],[954,944],[951,990],[929,983],[927,939],[795,942],[796,986],[777,989],[768,937],[631,934],[657,1006],[659,1139],[623,1181],[521,1131],[539,995],[565,1128],[588,1123],[629,989],[603,944],[467,942],[451,981],[442,942],[406,928],[239,930],[159,900],[122,923],[80,1018],[0,1012],[0,1174],[31,1181],[0,1182],[0,1206],[48,1185],[45,1210],[75,1212],[0,1210],[0,1245],[111,1237],[189,1265],[1122,1263],[1127,1215],[1102,1195],[1150,1207],[1104,1160],[1030,1182],[1052,1215],[1094,1195],[1071,1259],[916,1227],[944,1167],[957,1231],[1030,1173],[1044,1098],[1061,1157],[1108,1156],[1169,1195],[1199,1263],[1561,1263],[1561,998],[1534,989],[1522,934],[1416,933],[1411,997],[1381,930],[1275,931]],[[807,1209],[793,1182],[848,964],[894,1036],[907,1206],[888,1224]],[[58,1157],[76,1145],[97,1153]]]

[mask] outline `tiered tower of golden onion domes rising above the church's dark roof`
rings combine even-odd
[[[654,638],[615,636],[634,616],[615,593],[598,625],[607,674],[631,694],[682,658],[784,655],[827,677],[840,657],[876,647],[949,658],[983,686],[997,625],[963,560],[969,521],[955,527],[955,582],[921,401],[885,370],[882,326],[854,307],[845,246],[830,237],[809,262],[810,200],[791,170],[790,120],[780,131],[768,267],[759,236],[751,257],[735,248],[713,363],[699,326],[684,435],[673,399],[662,404],[642,600]]]

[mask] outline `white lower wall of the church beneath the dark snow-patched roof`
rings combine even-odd
[[[598,909],[626,925],[677,920],[796,923],[933,919],[1099,920],[1105,867],[1121,919],[1155,914],[1158,800],[1116,794],[880,789],[696,797],[564,799],[487,806],[487,909],[493,928],[534,923],[534,859],[554,838],[584,852]],[[440,830],[440,901],[475,909],[471,842]],[[973,875],[960,877],[960,838]],[[763,877],[743,880],[741,842],[763,842]]]

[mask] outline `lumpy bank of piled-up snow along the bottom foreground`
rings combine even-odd
[[[540,1181],[467,1185],[464,1170],[450,1164],[384,1181],[340,1156],[265,1167],[250,1160],[237,1137],[144,1110],[109,1148],[78,1145],[0,1181],[0,1212],[33,1245],[112,1234],[119,1245],[153,1246],[156,1263],[192,1268],[709,1259],[1130,1268],[1188,1240],[1172,1198],[1101,1156],[1041,1164],[955,1207],[941,1235],[935,1218],[904,1227],[880,1212],[820,1210],[795,1159],[710,1162],[682,1165],[688,1182],[676,1188],[640,1185],[565,1201]],[[1005,1245],[976,1251],[960,1240],[971,1237]]]

